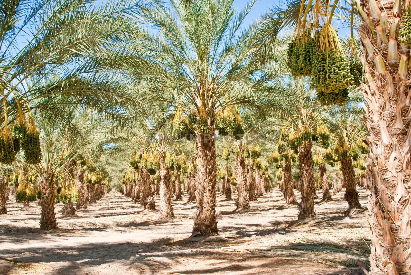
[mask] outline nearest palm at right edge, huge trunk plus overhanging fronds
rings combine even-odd
[[[370,149],[372,170],[371,274],[406,274],[410,270],[402,256],[410,248],[409,237],[402,238],[410,235],[410,195],[404,189],[404,182],[409,181],[411,174],[411,125],[406,100],[410,75],[406,54],[410,45],[409,10],[406,1],[393,1],[389,5],[373,0],[295,1],[282,12],[281,19],[272,16],[272,24],[262,31],[270,34],[267,37],[275,37],[273,26],[278,30],[281,26],[294,25],[296,33],[302,34],[312,22],[321,21],[333,32],[334,14],[345,14],[341,17],[349,14],[353,36],[354,24],[359,22],[355,27],[363,49],[360,59],[364,67],[361,87],[368,131],[365,141]],[[335,32],[332,37],[336,37]],[[395,217],[393,223],[392,217]]]

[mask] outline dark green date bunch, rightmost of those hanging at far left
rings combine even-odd
[[[27,132],[21,142],[21,149],[24,150],[24,161],[28,164],[37,164],[42,160],[39,132],[37,132],[32,116],[29,117]]]

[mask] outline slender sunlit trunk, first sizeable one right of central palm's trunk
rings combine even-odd
[[[235,169],[236,169],[236,181],[237,181],[237,202],[236,206],[240,209],[250,208],[249,190],[247,186],[247,177],[245,175],[245,159],[240,155],[236,156]]]

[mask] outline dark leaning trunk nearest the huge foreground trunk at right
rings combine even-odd
[[[356,187],[355,172],[353,169],[351,157],[345,157],[341,160],[341,172],[344,177],[345,194],[344,199],[348,203],[349,210],[361,209],[361,204],[358,201],[358,192]]]

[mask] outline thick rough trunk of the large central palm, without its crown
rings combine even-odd
[[[214,143],[214,129],[208,135],[200,134],[196,139],[197,146],[197,175],[196,199],[197,211],[194,216],[193,233],[199,232],[203,236],[217,235],[217,214],[215,213],[216,197],[216,154]]]

